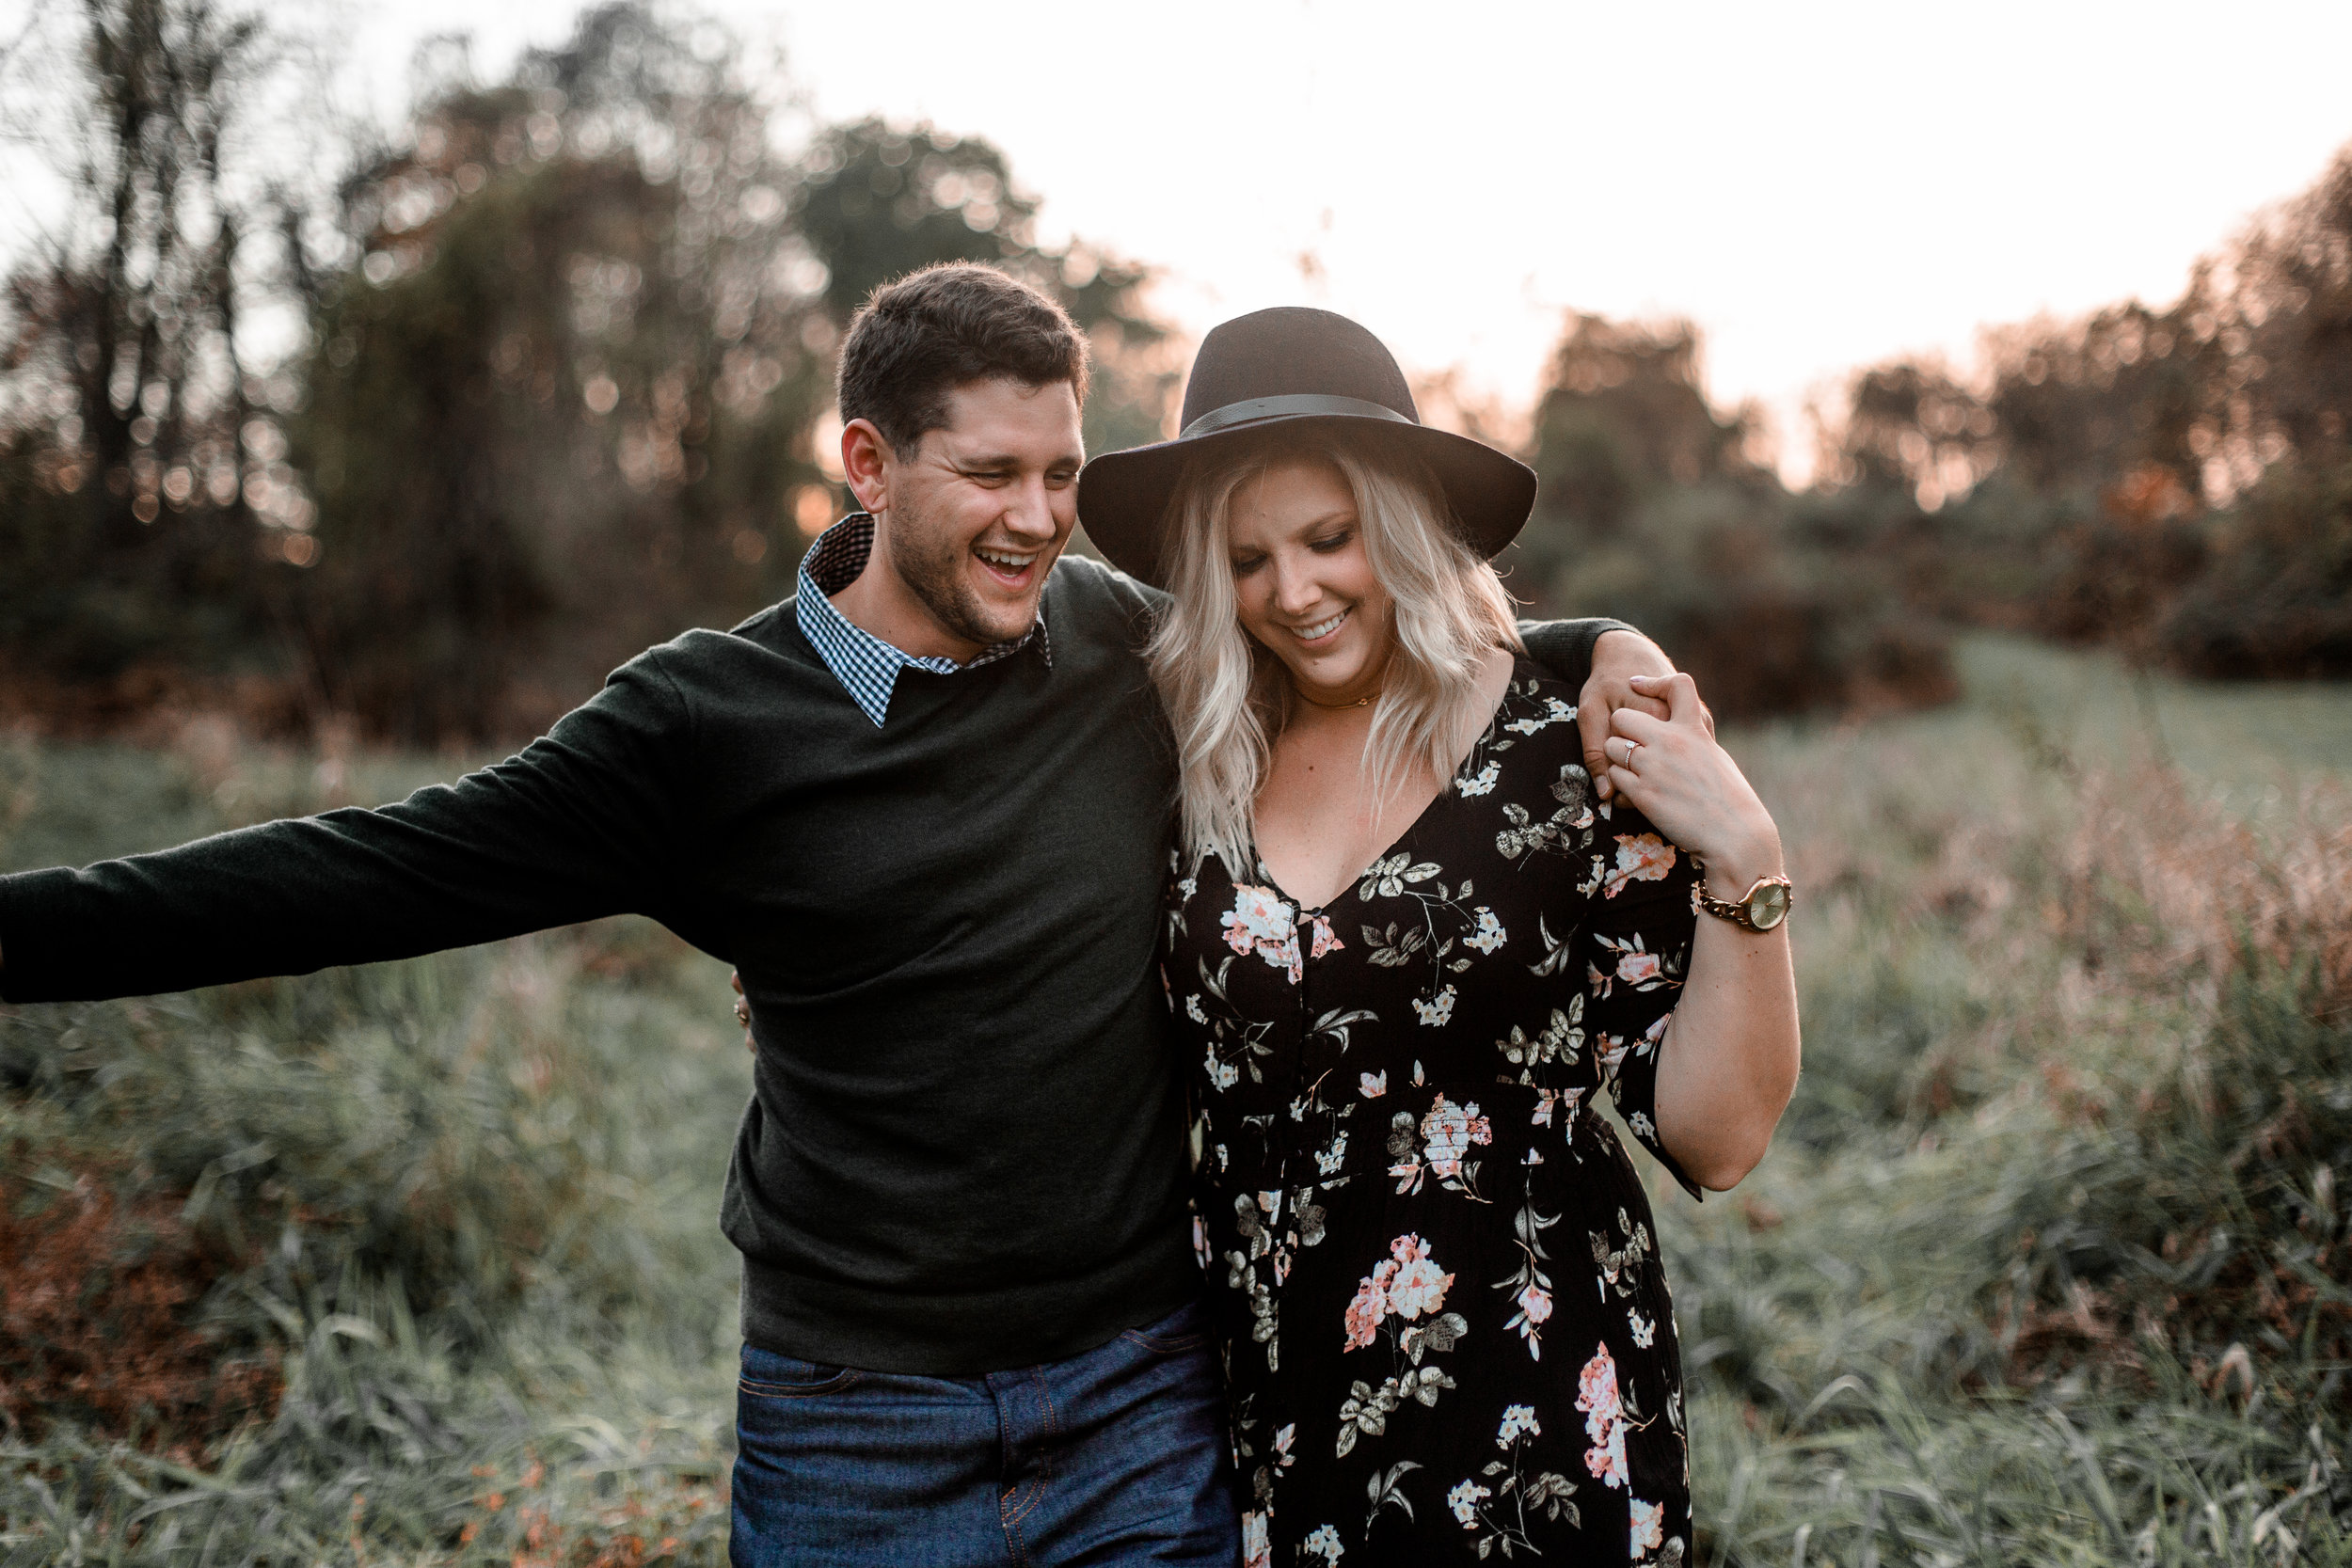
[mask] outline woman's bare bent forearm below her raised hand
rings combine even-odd
[[[1708,867],[1717,898],[1780,872],[1778,842],[1738,858],[1755,865]],[[1682,999],[1658,1044],[1658,1140],[1700,1187],[1736,1187],[1771,1145],[1797,1063],[1788,926],[1748,931],[1700,914]]]

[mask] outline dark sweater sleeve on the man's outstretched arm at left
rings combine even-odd
[[[659,654],[520,755],[400,804],[0,877],[0,999],[226,985],[659,914],[691,766]]]

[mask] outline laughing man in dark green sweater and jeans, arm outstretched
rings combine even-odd
[[[1230,1563],[1152,961],[1155,595],[1058,562],[1084,393],[1035,289],[880,289],[840,367],[866,510],[793,599],[642,654],[456,785],[0,879],[0,997],[661,919],[736,964],[757,1039],[722,1208],[734,1559]],[[1602,630],[1534,644],[1583,679]],[[1588,750],[1668,668],[1637,635],[1609,661]]]

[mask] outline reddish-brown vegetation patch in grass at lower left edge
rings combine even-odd
[[[202,1441],[278,1408],[275,1354],[233,1354],[195,1309],[235,1258],[162,1194],[85,1171],[45,1206],[0,1206],[0,1420]]]

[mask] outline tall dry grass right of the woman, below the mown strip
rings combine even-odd
[[[1966,750],[1955,750],[1962,743]],[[1668,1199],[1710,1561],[2352,1561],[2352,799],[1759,743],[1806,1077]]]

